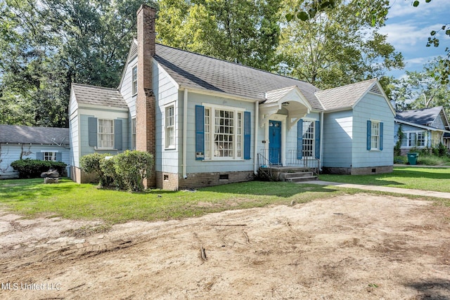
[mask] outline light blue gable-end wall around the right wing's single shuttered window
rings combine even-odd
[[[367,150],[367,120],[383,122],[383,150]],[[394,161],[394,115],[383,96],[367,93],[353,111],[352,167],[390,166]]]

